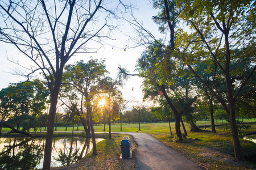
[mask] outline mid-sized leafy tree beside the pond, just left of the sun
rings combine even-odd
[[[89,115],[92,114],[89,112],[91,110],[90,102],[94,95],[97,94],[97,91],[92,91],[91,88],[108,73],[105,69],[104,62],[98,61],[97,59],[90,59],[85,63],[81,60],[76,65],[67,65],[63,75],[61,101],[74,114],[80,117],[88,137],[90,134]]]

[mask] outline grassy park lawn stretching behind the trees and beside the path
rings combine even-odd
[[[246,133],[255,133],[256,132],[256,122],[254,119],[247,120],[244,119],[243,123],[247,123],[251,126],[250,129],[246,130]],[[255,165],[252,163],[256,162],[256,144],[241,138],[241,146],[243,150],[243,154],[246,158],[245,162],[240,162],[234,159],[234,151],[233,151],[233,142],[232,137],[230,135],[230,131],[225,131],[224,126],[222,125],[222,121],[217,121],[216,131],[217,133],[211,133],[210,121],[198,121],[196,122],[197,126],[201,126],[200,133],[190,132],[188,124],[185,124],[188,136],[183,142],[175,142],[176,134],[175,134],[175,123],[171,123],[172,128],[172,137],[170,134],[170,129],[168,123],[155,123],[155,124],[141,124],[141,131],[138,131],[138,124],[122,124],[122,131],[131,131],[139,133],[147,133],[155,138],[159,139],[166,145],[174,148],[175,150],[181,152],[183,155],[192,159],[194,162],[199,164],[201,167],[205,169],[256,169]],[[224,124],[226,122],[224,121]],[[76,130],[76,127],[75,127]],[[103,125],[94,126],[95,131],[104,131]],[[120,125],[112,125],[112,131],[121,131]],[[9,129],[3,128],[2,131],[9,131]],[[65,127],[57,127],[57,131],[65,131]],[[56,131],[56,132],[57,132]],[[68,131],[72,131],[72,127],[68,128]],[[82,126],[79,127],[79,131],[84,131]],[[109,126],[106,125],[106,131],[109,131]],[[181,131],[183,129],[181,128]],[[39,133],[37,133],[39,134]],[[56,134],[57,135],[57,134]],[[64,135],[64,134],[60,134]],[[71,133],[68,133],[71,135]],[[78,134],[76,134],[78,135]],[[80,134],[82,135],[82,134]],[[98,135],[98,134],[97,134]],[[108,135],[106,135],[108,138]],[[117,167],[118,169],[123,168],[123,163],[118,161],[118,159],[109,158],[117,158],[120,154],[119,151],[119,142],[122,139],[122,135],[114,135],[113,139],[108,139],[105,143],[98,143],[98,155],[95,156],[87,156],[86,160],[90,160],[89,168],[92,168],[94,163],[98,164],[101,169],[108,164],[107,167]],[[109,141],[110,140],[110,141]],[[113,143],[114,142],[114,143]],[[109,147],[115,148],[111,152],[106,152],[109,150]],[[102,157],[104,156],[104,157]],[[254,160],[250,160],[254,158]],[[132,161],[131,161],[132,162]],[[133,164],[133,162],[131,163]],[[96,166],[98,166],[96,165]],[[85,168],[85,167],[84,167]],[[85,168],[86,169],[86,168]],[[96,168],[97,169],[97,168]]]

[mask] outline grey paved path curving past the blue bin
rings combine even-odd
[[[192,160],[184,158],[182,154],[158,141],[146,133],[125,133],[131,135],[138,147],[135,148],[135,169],[201,169]]]

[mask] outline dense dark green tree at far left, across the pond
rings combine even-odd
[[[16,130],[26,125],[23,129],[28,131],[30,128],[36,128],[36,118],[46,109],[49,92],[42,81],[34,79],[13,83],[3,88],[0,95],[2,117],[8,119],[2,123],[11,124],[13,128],[16,126]]]

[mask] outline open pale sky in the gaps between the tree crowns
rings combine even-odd
[[[138,10],[134,11],[135,17],[143,22],[145,28],[149,29],[155,35],[159,34],[158,25],[152,22],[151,18],[153,15],[156,15],[157,11],[152,8],[150,1],[141,0],[135,1],[132,0],[132,3],[137,3]],[[112,46],[105,46],[101,48],[97,53],[85,53],[82,55],[77,55],[71,58],[68,64],[73,64],[80,59],[88,61],[90,57],[92,58],[104,58],[106,69],[109,71],[110,76],[115,78],[118,73],[118,66],[121,65],[126,69],[130,70],[130,73],[136,73],[135,65],[137,59],[141,56],[141,53],[145,49],[143,46],[139,48],[132,48],[124,50],[125,45],[127,45],[129,37],[125,35],[134,35],[133,28],[130,27],[127,23],[121,23],[120,29],[122,32],[115,32],[114,41],[110,42]],[[21,68],[15,63],[8,61],[7,58],[15,58],[15,61],[26,64],[26,59],[20,57],[21,54],[14,46],[10,44],[3,44],[0,42],[0,90],[6,88],[9,83],[17,83],[19,81],[24,81],[26,78],[20,75],[14,75],[14,70],[20,70]],[[123,95],[126,99],[139,101],[142,99],[142,78],[137,76],[130,77],[125,86],[122,89]]]

